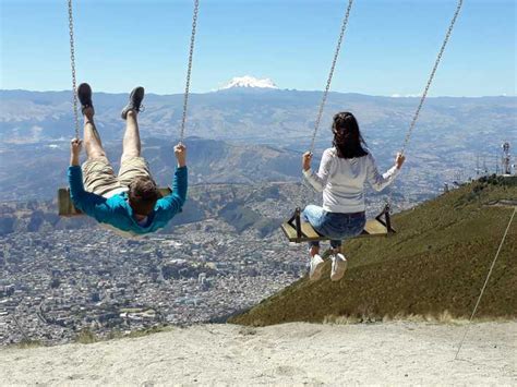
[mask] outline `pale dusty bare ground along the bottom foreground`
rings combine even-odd
[[[0,350],[4,384],[517,385],[517,322],[201,325],[95,344]]]

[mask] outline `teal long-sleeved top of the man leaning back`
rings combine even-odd
[[[119,230],[135,234],[154,232],[181,211],[187,199],[187,167],[176,169],[172,193],[156,202],[154,210],[148,215],[145,226],[140,226],[133,218],[133,209],[128,202],[125,192],[106,198],[84,190],[81,167],[71,166],[68,171],[70,197],[74,206],[94,217],[101,223],[111,225]]]

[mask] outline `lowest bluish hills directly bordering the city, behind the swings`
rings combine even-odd
[[[175,232],[175,226],[217,219],[236,235],[254,232],[257,238],[280,233],[279,226],[293,210],[293,203],[317,203],[317,194],[300,190],[299,183],[200,184],[189,188],[183,211],[160,233]],[[26,202],[0,202],[0,235],[21,232],[95,229],[85,216],[58,216],[56,198]],[[203,227],[202,223],[199,227]]]

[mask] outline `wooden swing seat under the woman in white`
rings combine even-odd
[[[326,241],[329,238],[320,234],[309,222],[301,221],[301,209],[297,207],[292,217],[281,225],[281,230],[286,234],[289,242],[302,243],[311,241]],[[392,219],[389,218],[389,206],[384,209],[374,219],[366,220],[364,230],[353,238],[365,237],[387,237],[395,233],[392,228]]]

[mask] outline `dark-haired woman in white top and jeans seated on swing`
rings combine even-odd
[[[330,239],[330,279],[337,281],[347,269],[347,259],[340,252],[341,240],[359,235],[366,222],[364,183],[368,181],[375,191],[382,191],[395,180],[406,158],[397,154],[395,165],[381,174],[352,113],[345,111],[334,116],[332,131],[333,147],[323,153],[317,172],[311,169],[312,154],[303,154],[304,178],[316,191],[323,192],[323,207],[306,206],[303,218],[315,231]],[[317,280],[324,264],[320,242],[309,245],[309,278]]]

